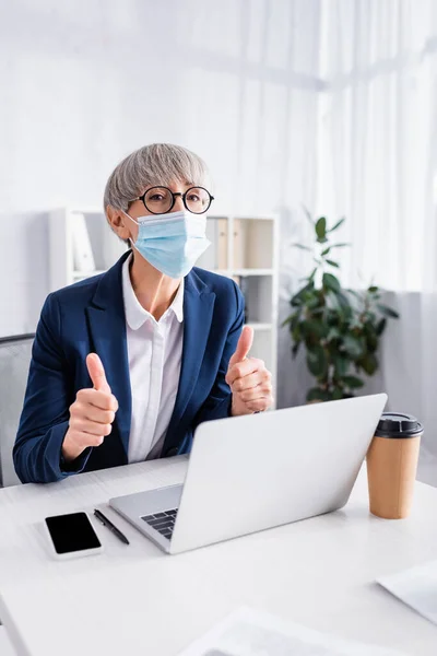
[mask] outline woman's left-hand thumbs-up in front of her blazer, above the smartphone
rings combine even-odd
[[[116,397],[106,380],[105,370],[96,353],[86,358],[92,389],[80,389],[70,406],[70,424],[62,443],[62,456],[74,460],[88,446],[99,446],[113,430],[118,410]]]

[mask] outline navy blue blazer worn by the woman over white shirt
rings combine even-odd
[[[47,483],[128,462],[131,391],[121,269],[129,253],[106,273],[54,292],[44,304],[13,449],[23,482]],[[163,456],[189,453],[199,423],[229,414],[225,375],[243,323],[244,298],[233,280],[198,268],[188,273],[181,371]],[[80,389],[92,387],[85,363],[92,352],[102,359],[119,409],[104,443],[62,467],[69,408]]]

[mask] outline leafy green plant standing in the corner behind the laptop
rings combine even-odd
[[[328,401],[354,396],[364,385],[363,375],[375,374],[387,319],[399,315],[380,302],[378,286],[373,284],[362,292],[343,289],[332,273],[339,268],[339,262],[332,259],[333,253],[349,246],[332,243],[332,235],[344,219],[329,229],[324,216],[312,220],[307,214],[314,227],[315,244],[294,246],[310,251],[315,267],[292,297],[292,313],[283,325],[290,326],[293,356],[303,344],[308,370],[316,378],[307,401]]]

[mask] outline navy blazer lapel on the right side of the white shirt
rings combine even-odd
[[[178,443],[177,425],[187,408],[198,379],[206,347],[215,294],[191,271],[185,279],[184,344],[179,387],[168,425],[163,453]]]

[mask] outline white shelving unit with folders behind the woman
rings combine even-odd
[[[276,389],[279,223],[271,216],[209,215],[212,246],[197,266],[233,278],[253,328],[251,355],[265,362]],[[84,230],[85,227],[85,230]],[[61,208],[49,214],[51,291],[106,271],[127,246],[96,208]]]

